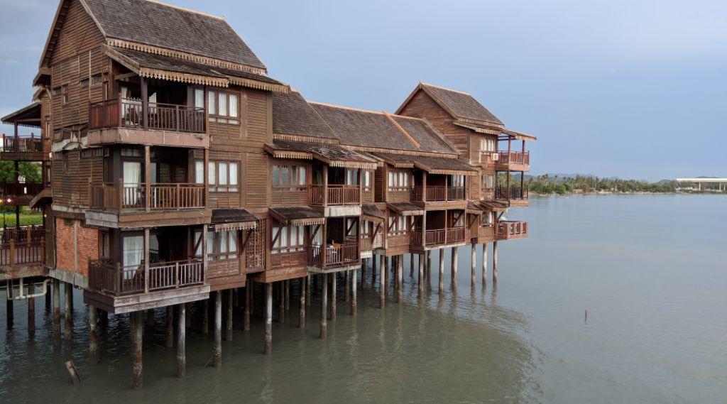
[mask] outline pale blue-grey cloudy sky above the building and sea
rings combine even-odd
[[[166,2],[225,16],[309,100],[393,112],[419,81],[469,92],[538,137],[533,174],[727,177],[727,1]],[[31,102],[57,1],[0,7],[4,116]]]

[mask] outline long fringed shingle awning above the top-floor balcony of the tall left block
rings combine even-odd
[[[108,57],[139,76],[182,83],[228,87],[230,84],[273,92],[288,92],[290,87],[268,76],[244,70],[204,65],[189,60],[151,54],[132,49],[103,46]]]

